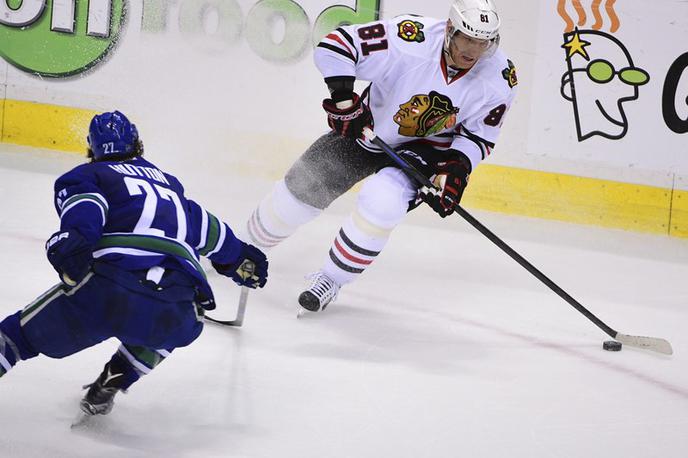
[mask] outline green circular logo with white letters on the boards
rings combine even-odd
[[[39,76],[82,73],[115,45],[125,13],[125,0],[0,0],[0,55]]]

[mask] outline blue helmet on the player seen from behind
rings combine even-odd
[[[93,117],[86,140],[93,160],[114,160],[136,151],[139,131],[123,113],[105,112]]]

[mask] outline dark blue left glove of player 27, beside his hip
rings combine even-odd
[[[93,245],[74,229],[55,232],[45,243],[45,252],[67,286],[83,280],[93,263]]]

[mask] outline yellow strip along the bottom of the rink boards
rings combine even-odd
[[[1,141],[84,154],[96,111],[3,102]],[[688,191],[481,164],[462,202],[466,208],[688,238]]]

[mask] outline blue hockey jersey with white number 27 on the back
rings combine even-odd
[[[227,224],[184,196],[174,176],[137,157],[80,165],[55,182],[61,230],[77,230],[93,257],[124,270],[189,273],[210,293],[199,256],[229,264],[241,242]]]

